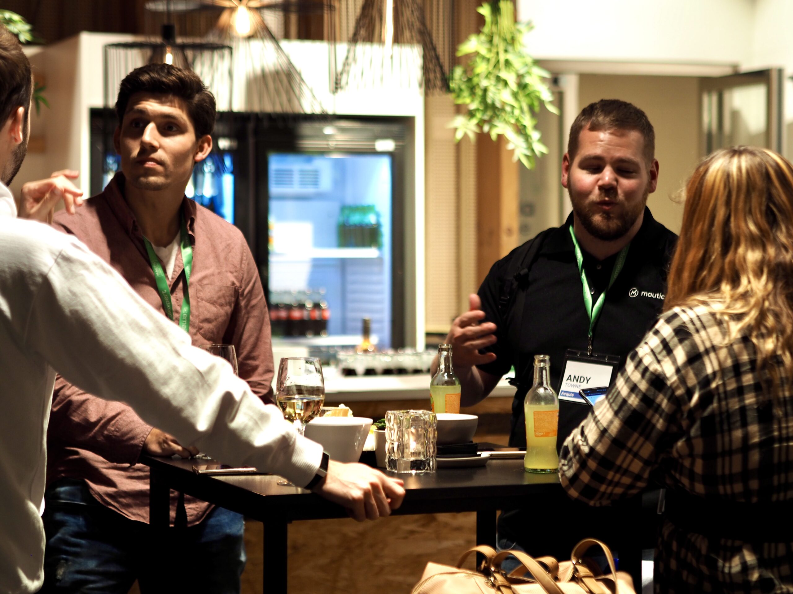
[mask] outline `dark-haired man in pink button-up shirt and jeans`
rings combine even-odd
[[[56,216],[56,228],[86,243],[155,309],[166,315],[170,310],[193,345],[234,345],[240,378],[271,402],[270,325],[251,250],[236,227],[185,197],[194,164],[212,149],[212,94],[190,71],[150,65],[121,83],[116,109],[113,142],[123,173],[76,215]],[[192,251],[188,269],[186,247]],[[162,295],[163,287],[169,295]],[[186,296],[187,321],[181,315]],[[124,315],[117,312],[119,323]],[[63,378],[56,382],[48,447],[48,505],[54,511],[44,517],[44,592],[98,584],[127,592],[136,578],[145,588],[162,572],[155,560],[144,562],[145,547],[132,544],[145,542],[148,522],[149,472],[136,462],[141,454],[186,457],[195,449],[147,425],[128,406],[86,394]],[[102,519],[96,529],[84,527],[91,524],[86,515]],[[242,517],[172,493],[171,520],[184,527],[179,548],[185,558],[212,560],[201,588],[239,591]],[[86,571],[80,562],[84,550],[96,569]]]

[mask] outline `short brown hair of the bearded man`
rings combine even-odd
[[[582,130],[635,130],[645,141],[644,154],[647,162],[655,158],[655,130],[647,114],[636,105],[619,99],[601,99],[590,103],[578,114],[570,126],[567,154],[571,161],[576,157],[578,140]]]

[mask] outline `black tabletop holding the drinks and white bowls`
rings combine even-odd
[[[206,460],[182,460],[144,456],[141,462],[166,479],[171,489],[265,520],[273,513],[289,520],[345,517],[339,505],[299,487],[278,485],[271,474],[211,476],[196,474],[193,465]],[[406,495],[395,514],[473,512],[517,507],[538,496],[566,497],[557,474],[529,474],[523,460],[490,460],[478,468],[439,469],[429,474],[393,474],[404,480]],[[528,501],[527,501],[528,503]]]

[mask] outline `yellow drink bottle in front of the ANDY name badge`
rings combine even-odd
[[[559,425],[559,398],[550,386],[550,356],[534,356],[534,383],[523,401],[526,413],[526,457],[523,469],[527,472],[556,472],[559,456],[556,453],[556,434]]]

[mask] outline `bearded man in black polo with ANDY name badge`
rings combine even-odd
[[[526,447],[523,398],[534,355],[550,356],[551,386],[567,397],[559,412],[561,446],[588,414],[588,405],[573,402],[577,388],[595,387],[564,380],[577,369],[595,369],[600,379],[592,382],[607,386],[661,313],[676,235],[646,207],[658,181],[654,152],[655,132],[641,109],[613,99],[584,108],[562,160],[572,214],[497,261],[470,295],[469,311],[454,320],[446,342],[454,349],[462,406],[486,398],[515,367],[511,446]],[[523,512],[502,514],[500,547],[537,543],[527,550],[562,554],[543,550],[548,532],[562,531],[569,554],[577,535],[555,522],[542,527],[537,515],[530,521]],[[556,520],[552,509],[542,516]]]

